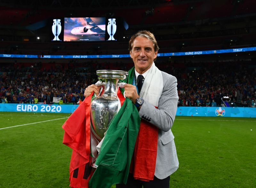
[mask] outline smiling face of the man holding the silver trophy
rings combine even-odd
[[[157,57],[157,51],[154,50],[154,44],[145,37],[136,37],[132,44],[130,56],[134,62],[135,70],[143,74],[153,64]]]

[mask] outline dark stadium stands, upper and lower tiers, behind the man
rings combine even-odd
[[[131,34],[140,29],[148,29],[156,35],[159,53],[255,46],[255,1],[97,2],[72,1],[70,4],[68,1],[53,3],[39,0],[3,3],[0,6],[0,53],[36,54],[39,58],[44,55],[127,54]],[[47,20],[52,22],[56,15],[63,18],[84,17],[84,12],[91,17],[122,17],[129,29],[124,31],[124,38],[114,43],[51,42],[52,33],[45,27]],[[38,27],[31,29],[34,24]],[[40,33],[42,38],[37,40],[36,36]],[[221,54],[221,58],[223,56]],[[222,62],[225,59],[230,59],[230,62],[221,65],[215,56],[208,56],[208,60],[207,57],[196,60],[196,63],[193,58],[180,57],[170,61],[158,58],[156,61],[161,70],[177,77],[179,106],[212,106],[213,100],[217,106],[221,106],[225,105],[225,101],[221,100],[224,96],[231,98],[225,106],[255,106],[255,54],[244,58],[250,61],[243,58],[234,61],[233,57],[227,55]],[[71,59],[41,59],[42,62],[0,60],[1,101],[15,103],[33,103],[35,98],[39,103],[51,103],[52,97],[62,97],[64,104],[76,104],[79,98],[84,99],[85,87],[97,80],[96,70],[128,70],[132,67],[129,58],[88,60],[83,63]]]

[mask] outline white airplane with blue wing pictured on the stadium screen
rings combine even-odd
[[[73,35],[102,35],[105,34],[106,25],[96,25],[91,18],[84,18],[85,26],[75,27],[71,30]]]

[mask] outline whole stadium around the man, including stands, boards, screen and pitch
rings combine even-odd
[[[179,168],[170,187],[256,187],[255,6],[0,1],[0,187],[69,187],[62,125],[98,82],[97,70],[134,66],[128,43],[141,30],[156,37],[156,67],[177,78]]]

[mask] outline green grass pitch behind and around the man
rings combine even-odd
[[[69,187],[69,115],[0,112],[1,188]],[[177,116],[172,132],[180,166],[170,187],[256,187],[255,118]]]

